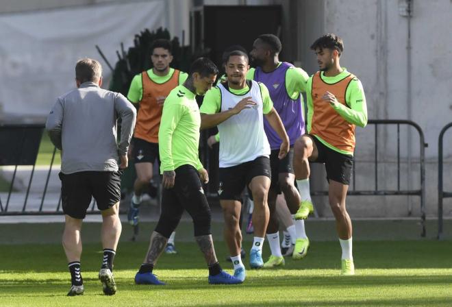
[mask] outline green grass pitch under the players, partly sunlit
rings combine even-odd
[[[29,231],[37,237],[40,224]],[[191,225],[184,222],[176,236],[177,255],[162,255],[156,273],[167,286],[135,285],[134,274],[147,251],[147,234],[140,241],[124,235],[115,258],[118,293],[105,297],[97,272],[102,251],[97,241],[99,224],[86,224],[82,257],[85,295],[66,297],[70,276],[58,243],[62,224],[42,225],[43,244],[0,245],[0,306],[452,306],[452,242],[434,240],[357,241],[353,254],[356,275],[340,276],[340,246],[336,241],[312,241],[307,257],[286,259],[284,269],[247,270],[247,280],[236,286],[212,286],[197,246],[189,241]],[[0,242],[8,231],[28,225],[1,225]],[[231,264],[221,241],[221,225],[214,225],[218,259]],[[329,230],[327,230],[329,231]],[[7,233],[5,233],[7,232]],[[26,232],[26,231],[25,231]],[[19,232],[21,233],[21,232]],[[251,247],[250,236],[244,243]],[[24,239],[27,241],[27,239]],[[268,256],[268,247],[264,255]],[[248,258],[244,261],[248,263]]]

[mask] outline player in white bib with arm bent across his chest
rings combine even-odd
[[[249,261],[251,268],[260,268],[262,244],[268,224],[267,195],[271,182],[270,145],[264,132],[264,114],[283,140],[279,158],[289,150],[284,125],[273,108],[264,84],[247,80],[247,53],[231,51],[226,63],[227,82],[212,88],[201,106],[201,128],[218,125],[221,135],[219,154],[220,204],[225,219],[225,241],[234,264],[234,276],[244,280],[240,258],[242,233],[239,227],[240,195],[245,187],[253,196],[254,241]]]

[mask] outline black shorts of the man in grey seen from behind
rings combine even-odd
[[[94,197],[99,210],[111,208],[121,200],[123,171],[81,171],[58,174],[61,180],[61,199],[64,214],[84,219]]]

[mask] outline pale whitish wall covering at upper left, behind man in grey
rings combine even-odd
[[[135,34],[166,27],[188,45],[190,1],[3,0],[0,5],[0,122],[45,120],[55,97],[75,86],[75,61],[99,59],[104,87],[110,64]],[[29,4],[29,5],[28,5]]]

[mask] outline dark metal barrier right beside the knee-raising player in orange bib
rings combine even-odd
[[[373,190],[356,190],[356,168],[353,166],[352,180],[353,184],[351,189],[348,191],[348,195],[415,195],[420,197],[420,225],[421,225],[421,236],[426,235],[425,230],[425,147],[428,146],[424,141],[423,130],[414,121],[407,120],[397,120],[397,119],[371,119],[368,121],[368,125],[375,125],[375,153],[374,153],[374,177],[375,177],[375,188]],[[378,126],[379,125],[397,125],[397,189],[385,190],[378,186]],[[401,190],[400,188],[400,126],[409,125],[414,127],[419,134],[419,167],[420,167],[420,188],[419,189],[406,189]],[[328,191],[315,191],[312,195],[328,195]]]

